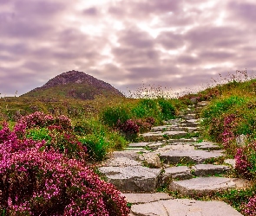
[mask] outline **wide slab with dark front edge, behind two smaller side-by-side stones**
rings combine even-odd
[[[160,155],[160,159],[167,164],[175,164],[178,162],[195,162],[203,163],[207,159],[223,156],[218,152],[210,152],[204,150],[170,150],[163,152]]]

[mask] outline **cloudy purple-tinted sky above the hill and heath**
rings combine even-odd
[[[0,93],[70,70],[121,92],[254,73],[255,11],[254,0],[0,0]]]

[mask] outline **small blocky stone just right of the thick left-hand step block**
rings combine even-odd
[[[187,166],[165,168],[164,170],[165,172],[162,174],[163,183],[167,183],[172,179],[185,180],[193,177],[190,173],[190,168],[187,168]]]

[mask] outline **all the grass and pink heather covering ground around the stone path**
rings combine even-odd
[[[140,133],[175,118],[192,100],[209,101],[200,113],[202,136],[236,160],[233,176],[255,181],[255,94],[256,79],[243,71],[226,84],[181,98],[158,90],[153,98],[0,98],[0,213],[128,215],[121,194],[93,171],[95,163],[140,141]],[[224,200],[244,215],[256,214],[254,185],[193,198]]]

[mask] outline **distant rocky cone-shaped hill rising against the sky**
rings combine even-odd
[[[124,95],[110,84],[95,79],[83,72],[69,71],[57,75],[53,79],[37,87],[22,97],[39,97],[39,98],[78,98],[83,100],[94,99],[95,96],[121,96]]]

